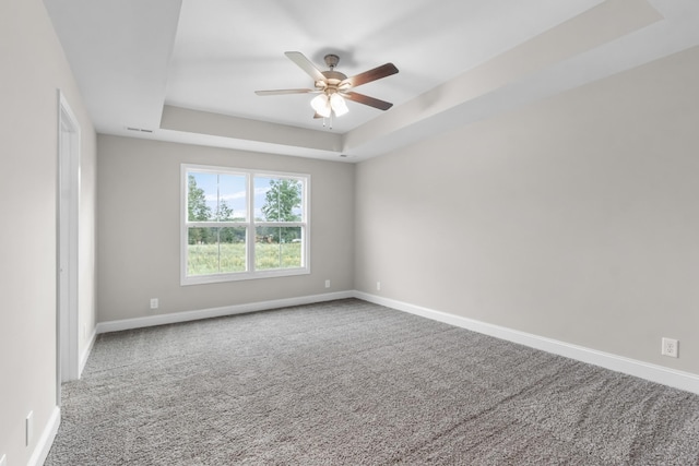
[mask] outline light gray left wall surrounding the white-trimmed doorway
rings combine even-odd
[[[0,2],[0,456],[27,464],[56,408],[60,88],[82,129],[80,327],[94,327],[96,136],[40,0]],[[80,350],[87,339],[81,332]],[[34,437],[24,444],[24,419]]]

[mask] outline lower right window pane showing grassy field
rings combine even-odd
[[[254,267],[258,271],[303,266],[301,227],[258,227]]]

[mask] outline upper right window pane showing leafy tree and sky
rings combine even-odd
[[[301,222],[303,186],[294,178],[254,178],[254,216],[265,222]]]

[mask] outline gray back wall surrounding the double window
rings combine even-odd
[[[100,322],[354,288],[354,165],[108,135],[97,146]],[[180,286],[182,163],[310,174],[310,275]]]

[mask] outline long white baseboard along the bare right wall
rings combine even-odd
[[[422,315],[427,319],[471,330],[496,338],[518,343],[531,348],[541,349],[570,359],[576,359],[578,361],[611,369],[616,372],[621,372],[628,375],[645,379],[651,382],[662,383],[675,389],[699,394],[699,375],[690,372],[683,372],[609,353],[597,351],[583,346],[571,345],[565,342],[436,311],[434,309],[395,301],[376,295],[369,295],[367,292],[355,291],[354,296],[365,301],[386,306],[387,308]]]

